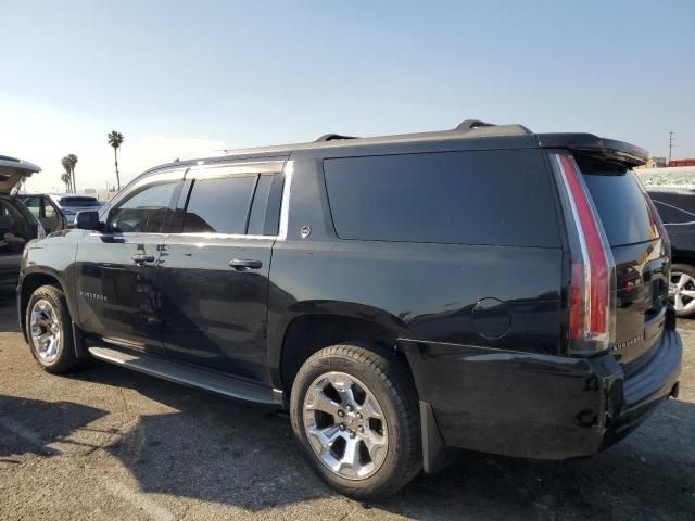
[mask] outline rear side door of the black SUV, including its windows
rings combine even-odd
[[[281,161],[191,169],[160,262],[169,356],[262,379]]]

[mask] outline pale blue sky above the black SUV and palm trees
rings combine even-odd
[[[31,191],[223,148],[452,128],[590,131],[695,156],[695,1],[0,0],[0,154]]]

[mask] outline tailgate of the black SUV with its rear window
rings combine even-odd
[[[627,373],[648,361],[664,330],[670,251],[658,216],[628,167],[574,154],[616,262],[617,318],[614,355]],[[666,239],[666,240],[665,240]]]

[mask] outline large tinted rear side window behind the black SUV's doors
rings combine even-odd
[[[337,158],[324,169],[343,239],[559,245],[538,150]]]

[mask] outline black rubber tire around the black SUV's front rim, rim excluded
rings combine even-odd
[[[40,300],[48,301],[51,304],[56,315],[55,321],[60,328],[61,340],[58,342],[55,358],[51,360],[41,358],[34,345],[34,342],[31,341],[31,309]],[[34,293],[31,293],[27,304],[24,323],[31,354],[46,371],[52,374],[64,374],[72,372],[79,367],[80,364],[75,355],[75,347],[73,343],[73,327],[70,310],[67,309],[67,302],[65,301],[65,294],[62,290],[54,285],[41,285],[40,288],[37,288]]]

